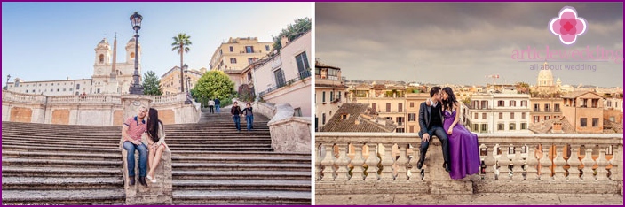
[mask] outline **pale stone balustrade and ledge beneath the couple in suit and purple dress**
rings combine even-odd
[[[317,133],[316,203],[622,203],[623,134],[478,135],[481,172],[451,180],[438,139],[419,170],[417,134]]]

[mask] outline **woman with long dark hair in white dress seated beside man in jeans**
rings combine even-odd
[[[162,121],[158,119],[158,111],[154,108],[150,108],[148,111],[146,140],[149,145],[147,163],[150,167],[150,171],[147,173],[147,179],[154,183],[156,182],[154,170],[159,162],[161,162],[162,152],[168,148],[165,143],[165,130],[162,127]]]

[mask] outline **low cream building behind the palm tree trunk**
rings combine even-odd
[[[190,78],[190,88],[193,89],[197,81],[202,78],[202,75],[206,73],[206,68],[200,68],[200,70],[189,69],[189,72],[186,74],[183,72],[183,75],[186,75]],[[180,67],[174,66],[167,73],[162,74],[160,88],[162,90],[162,95],[170,95],[170,94],[178,94],[182,93],[180,81]],[[185,85],[186,88],[187,85]]]

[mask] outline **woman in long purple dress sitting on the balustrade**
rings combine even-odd
[[[454,91],[443,88],[443,113],[445,121],[443,128],[447,131],[449,143],[449,161],[451,162],[451,172],[449,177],[460,180],[467,175],[479,173],[479,143],[478,135],[472,134],[460,123],[460,111],[458,101],[455,99]]]

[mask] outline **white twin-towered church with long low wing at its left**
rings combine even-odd
[[[132,83],[135,61],[135,41],[132,38],[125,46],[124,62],[116,61],[117,38],[115,37],[113,50],[107,38],[97,45],[93,63],[91,79],[79,80],[43,80],[26,81],[15,78],[7,83],[8,90],[18,93],[36,94],[44,96],[68,96],[82,94],[128,94]],[[138,44],[138,52],[141,45]],[[138,71],[141,73],[141,56],[138,59]],[[141,77],[139,78],[140,81]]]

